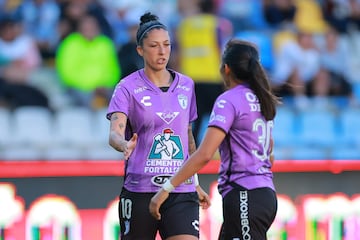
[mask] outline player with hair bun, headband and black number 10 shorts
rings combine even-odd
[[[152,196],[195,151],[191,123],[197,118],[194,82],[167,69],[171,43],[158,17],[140,18],[137,51],[144,68],[120,81],[110,101],[110,145],[124,153],[125,178],[119,201],[121,239],[199,239],[199,202],[209,196],[189,176],[161,208],[162,219],[148,210]]]

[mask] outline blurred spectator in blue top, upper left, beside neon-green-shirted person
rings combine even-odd
[[[55,0],[25,0],[17,9],[25,32],[36,41],[43,59],[53,59],[58,43],[60,8]]]

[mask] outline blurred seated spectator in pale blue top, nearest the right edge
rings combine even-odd
[[[320,50],[321,67],[326,70],[330,78],[330,96],[351,96],[351,83],[348,74],[349,49],[340,41],[336,29],[329,27],[324,34],[324,42],[318,45]]]

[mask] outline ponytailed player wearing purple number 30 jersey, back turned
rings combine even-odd
[[[219,148],[218,189],[223,198],[219,239],[266,239],[277,212],[273,184],[272,128],[278,99],[257,49],[231,40],[220,68],[227,91],[214,103],[205,137],[196,152],[167,181],[149,205],[156,219],[169,193],[209,162]]]

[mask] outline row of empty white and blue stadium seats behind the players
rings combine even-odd
[[[290,102],[279,106],[273,129],[275,158],[360,159],[360,108],[338,103],[336,109],[299,111],[291,108]],[[123,154],[108,143],[106,111],[68,108],[52,113],[41,107],[0,108],[0,159],[121,160]],[[202,120],[198,142],[208,120],[209,116]]]

